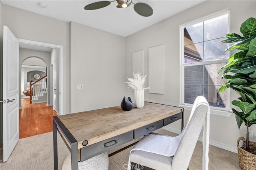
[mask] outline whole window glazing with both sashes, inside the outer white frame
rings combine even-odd
[[[226,82],[218,70],[229,58],[224,51],[228,44],[221,42],[229,32],[229,13],[204,18],[181,29],[182,104],[192,105],[197,96],[204,96],[211,109],[227,110],[228,91],[217,91]]]

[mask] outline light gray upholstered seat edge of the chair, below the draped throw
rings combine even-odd
[[[132,150],[131,162],[147,166],[155,170],[171,170],[173,156],[163,156],[142,150]]]

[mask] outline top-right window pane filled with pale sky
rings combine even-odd
[[[204,21],[204,41],[225,37],[228,33],[228,14]]]

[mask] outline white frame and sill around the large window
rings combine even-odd
[[[212,18],[216,18],[218,16],[222,16],[224,14],[228,14],[228,33],[230,32],[230,10],[224,11],[224,12],[220,12],[218,14],[214,14],[211,16],[206,16],[204,18],[201,18],[199,20],[195,20],[189,23],[186,23],[184,25],[180,25],[180,65],[181,65],[181,94],[180,94],[180,107],[184,107],[185,109],[192,109],[192,105],[193,104],[186,104],[184,102],[184,67],[185,66],[194,66],[194,65],[198,65],[198,63],[200,63],[200,65],[206,65],[206,64],[214,64],[214,63],[227,63],[228,59],[218,59],[218,60],[214,60],[214,61],[201,61],[201,62],[194,62],[194,63],[185,63],[184,64],[184,28],[194,25],[196,23],[200,23],[202,21],[206,21],[206,20],[210,20]],[[227,52],[228,56],[230,57],[230,52]],[[220,77],[222,76],[222,74],[220,73]],[[214,107],[214,106],[210,106],[210,113],[214,114],[214,115],[222,115],[222,116],[226,116],[226,117],[230,117],[230,115],[232,115],[232,113],[230,112],[230,89],[227,88],[226,90],[226,107]]]

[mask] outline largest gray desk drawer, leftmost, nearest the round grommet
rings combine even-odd
[[[117,135],[110,139],[89,145],[88,147],[81,148],[81,161],[85,161],[89,158],[92,158],[102,152],[112,149],[132,141],[132,131],[126,132],[121,135]]]

